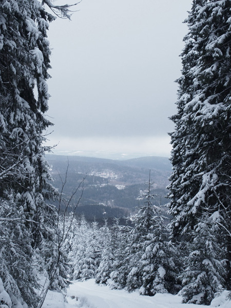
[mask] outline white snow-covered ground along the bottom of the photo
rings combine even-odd
[[[231,301],[225,300],[227,292],[215,298],[210,306],[182,304],[179,296],[156,294],[149,297],[138,292],[110,290],[109,286],[95,284],[93,279],[73,282],[67,295],[67,302],[64,302],[61,293],[49,291],[42,308],[231,308]]]

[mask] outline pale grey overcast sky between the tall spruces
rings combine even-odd
[[[191,0],[82,0],[71,21],[50,24],[54,153],[169,157],[190,7]]]

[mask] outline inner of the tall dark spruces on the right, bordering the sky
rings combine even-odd
[[[194,174],[196,172],[200,174],[197,144],[198,139],[200,137],[202,139],[204,135],[196,135],[195,130],[198,125],[193,122],[194,114],[191,112],[193,107],[190,107],[189,103],[194,103],[194,98],[199,93],[200,83],[194,83],[194,80],[198,61],[202,56],[203,43],[198,39],[199,29],[195,24],[206,2],[206,0],[195,0],[186,20],[189,33],[184,38],[185,48],[181,54],[183,68],[182,76],[178,80],[178,113],[171,117],[175,123],[175,132],[171,133],[173,172],[170,177],[169,196],[171,198],[170,214],[174,216],[172,231],[175,236],[185,234],[186,229],[184,228],[190,229],[191,225],[195,224],[194,217],[197,210],[192,211],[192,205],[188,204],[188,201],[197,194],[198,185],[202,182],[201,176],[198,178]]]

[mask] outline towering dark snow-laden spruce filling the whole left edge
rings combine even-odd
[[[35,250],[51,257],[55,242],[55,209],[46,203],[55,190],[42,145],[51,124],[44,117],[50,67],[46,32],[54,17],[44,3],[67,16],[68,6],[48,0],[0,2],[0,276],[12,303],[29,307],[37,305]]]

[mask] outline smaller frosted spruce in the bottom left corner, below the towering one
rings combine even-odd
[[[18,307],[22,307],[24,302],[38,301],[34,292],[34,288],[38,289],[33,273],[34,253],[28,244],[30,233],[24,224],[24,215],[20,209],[15,209],[9,200],[1,199],[0,277],[5,292],[11,297],[12,305]]]

